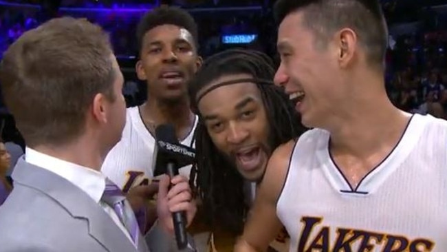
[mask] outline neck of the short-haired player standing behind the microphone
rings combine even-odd
[[[194,126],[195,116],[190,110],[187,98],[177,103],[166,103],[149,98],[141,105],[140,113],[144,124],[151,133],[158,125],[171,124],[178,138],[185,138]]]

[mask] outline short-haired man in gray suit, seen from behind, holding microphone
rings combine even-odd
[[[48,21],[10,46],[0,81],[27,145],[0,207],[0,251],[148,251],[131,204],[100,173],[126,109],[107,34],[85,19]],[[195,206],[186,178],[174,178],[169,193],[166,180],[158,216],[172,231],[170,210],[190,221]],[[156,190],[140,190],[142,200]]]

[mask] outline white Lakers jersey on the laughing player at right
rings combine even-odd
[[[290,251],[447,251],[447,121],[415,114],[357,188],[334,165],[329,132],[294,147],[277,202]]]

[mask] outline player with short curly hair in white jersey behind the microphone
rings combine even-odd
[[[102,172],[124,192],[148,185],[153,179],[157,125],[173,124],[180,142],[190,146],[197,123],[196,116],[190,111],[186,87],[201,65],[201,57],[197,55],[197,25],[193,17],[185,10],[162,6],[142,17],[137,32],[140,59],[135,70],[138,78],[146,82],[147,101],[127,109],[122,139],[102,165]],[[189,171],[190,167],[185,167],[180,169],[180,174],[188,177]],[[138,205],[133,207],[140,209]],[[154,216],[155,206],[147,211],[146,216]],[[142,229],[147,231],[154,221],[151,218]],[[149,240],[163,243],[162,238]],[[162,252],[151,244],[150,249]]]

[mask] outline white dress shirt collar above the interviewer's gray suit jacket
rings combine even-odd
[[[104,193],[106,177],[99,171],[43,154],[30,147],[25,148],[25,160],[72,182],[96,203],[100,201]]]

